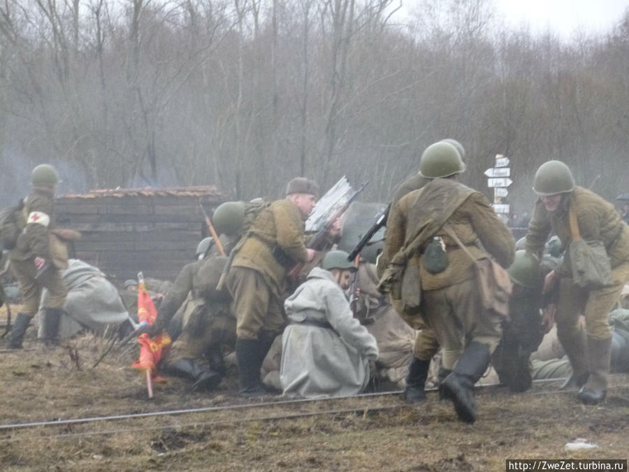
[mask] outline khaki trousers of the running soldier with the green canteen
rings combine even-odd
[[[471,341],[496,349],[502,336],[503,317],[485,313],[476,280],[422,292],[421,313],[442,348],[444,369],[454,369],[458,357]]]

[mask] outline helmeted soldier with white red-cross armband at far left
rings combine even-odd
[[[22,348],[24,333],[37,313],[43,287],[50,296],[43,306],[44,341],[58,341],[59,319],[68,289],[59,273],[66,269],[63,261],[53,259],[50,250],[50,230],[55,228],[54,197],[59,183],[57,169],[41,164],[33,169],[33,191],[24,199],[23,214],[26,225],[18,236],[15,248],[9,253],[11,271],[17,279],[22,295],[22,311],[17,314],[10,334],[9,347]],[[57,264],[58,266],[55,266]]]

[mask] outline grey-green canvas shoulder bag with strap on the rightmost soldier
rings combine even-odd
[[[570,205],[568,210],[570,224],[570,263],[572,264],[572,280],[579,287],[595,290],[612,285],[612,265],[602,241],[584,241],[579,231],[577,212]]]

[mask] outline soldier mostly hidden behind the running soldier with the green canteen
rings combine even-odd
[[[461,143],[451,138],[443,139],[440,142],[453,145],[461,157],[461,162],[463,162],[463,159],[465,159],[465,148],[463,148],[463,145],[461,145]],[[439,147],[431,147],[431,152],[437,152],[438,149]],[[393,196],[391,208],[393,208],[393,205],[395,205],[395,203],[403,196],[409,194],[414,190],[421,189],[421,187],[424,187],[426,183],[428,183],[428,179],[424,175],[422,175],[421,172],[405,180],[400,185],[400,187],[398,187],[396,194]],[[387,224],[387,228],[388,227],[389,224]],[[394,301],[392,304],[393,307],[396,308],[398,313],[403,311],[400,306],[398,306],[398,304]],[[400,313],[400,315],[402,315],[402,317],[414,329],[419,330],[417,338],[415,339],[415,345],[413,348],[413,359],[408,368],[406,387],[404,389],[404,397],[408,403],[419,403],[426,399],[424,387],[426,387],[428,369],[431,365],[431,359],[439,350],[439,343],[433,331],[426,326],[423,320],[421,320],[421,317],[408,317],[404,313]],[[443,380],[448,374],[449,370],[445,369],[443,366],[440,366],[438,375],[439,379]]]

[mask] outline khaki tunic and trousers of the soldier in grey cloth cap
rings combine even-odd
[[[236,314],[236,336],[257,339],[261,331],[280,332],[285,324],[282,294],[289,268],[273,255],[278,247],[293,259],[308,257],[303,241],[303,218],[288,199],[262,210],[233,258],[226,278]]]

